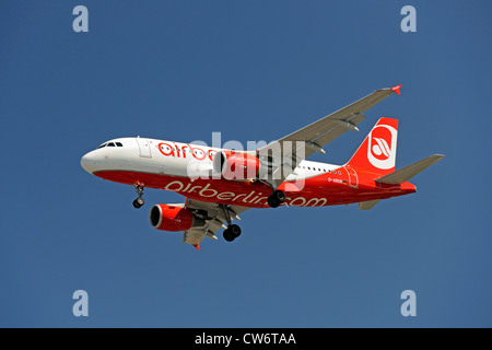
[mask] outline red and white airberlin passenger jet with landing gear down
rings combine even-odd
[[[183,243],[200,249],[204,237],[227,242],[242,230],[232,223],[251,208],[325,207],[359,203],[370,210],[382,199],[417,191],[409,180],[442,160],[434,154],[395,171],[398,119],[382,117],[343,165],[307,161],[345,131],[359,131],[363,113],[401,85],[380,89],[277,141],[253,151],[201,144],[119,138],[101,144],[81,159],[82,167],[103,179],[131,185],[143,206],[143,189],[175,191],[183,203],[157,203],[150,222],[162,231],[181,232]]]

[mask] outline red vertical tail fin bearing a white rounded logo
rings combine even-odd
[[[347,165],[386,175],[395,171],[398,119],[380,118]]]

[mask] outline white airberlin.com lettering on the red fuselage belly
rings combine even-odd
[[[171,182],[164,187],[165,190],[173,190],[176,191],[183,196],[186,196],[187,194],[197,194],[200,197],[203,198],[216,198],[218,200],[223,201],[235,201],[238,202],[238,205],[254,205],[254,206],[261,206],[267,205],[268,195],[265,196],[263,192],[257,192],[255,190],[251,190],[246,194],[235,194],[231,191],[223,191],[220,192],[213,188],[210,188],[210,184],[207,184],[206,186],[194,186],[192,183],[189,183],[188,185],[185,185],[184,183],[179,180]],[[191,197],[191,196],[189,196]],[[296,197],[294,199],[291,199],[290,197],[286,197],[286,202],[289,206],[295,206],[295,207],[321,207],[326,206],[328,200],[326,198],[304,198],[304,197]]]

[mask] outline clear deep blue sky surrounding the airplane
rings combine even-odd
[[[89,9],[74,33],[72,9]],[[417,9],[417,33],[400,10]],[[491,327],[490,1],[2,1],[2,327]],[[89,175],[80,158],[140,135],[288,135],[402,84],[313,160],[341,164],[382,116],[397,167],[447,158],[419,191],[250,210],[202,243],[151,228],[183,198]],[[89,293],[89,317],[72,293]],[[400,293],[417,293],[402,317]]]

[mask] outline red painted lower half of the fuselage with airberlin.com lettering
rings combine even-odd
[[[338,174],[338,171],[341,174]],[[267,198],[271,188],[259,182],[235,182],[221,179],[195,180],[189,177],[169,176],[128,171],[101,171],[94,175],[112,182],[133,185],[140,183],[148,188],[173,190],[197,200],[249,208],[269,208]],[[294,207],[324,207],[347,205],[374,199],[386,199],[415,191],[410,183],[402,185],[379,185],[378,176],[358,172],[356,187],[351,186],[349,173],[344,167],[337,173],[324,173],[303,182],[283,183],[279,189],[286,196],[286,203]]]

